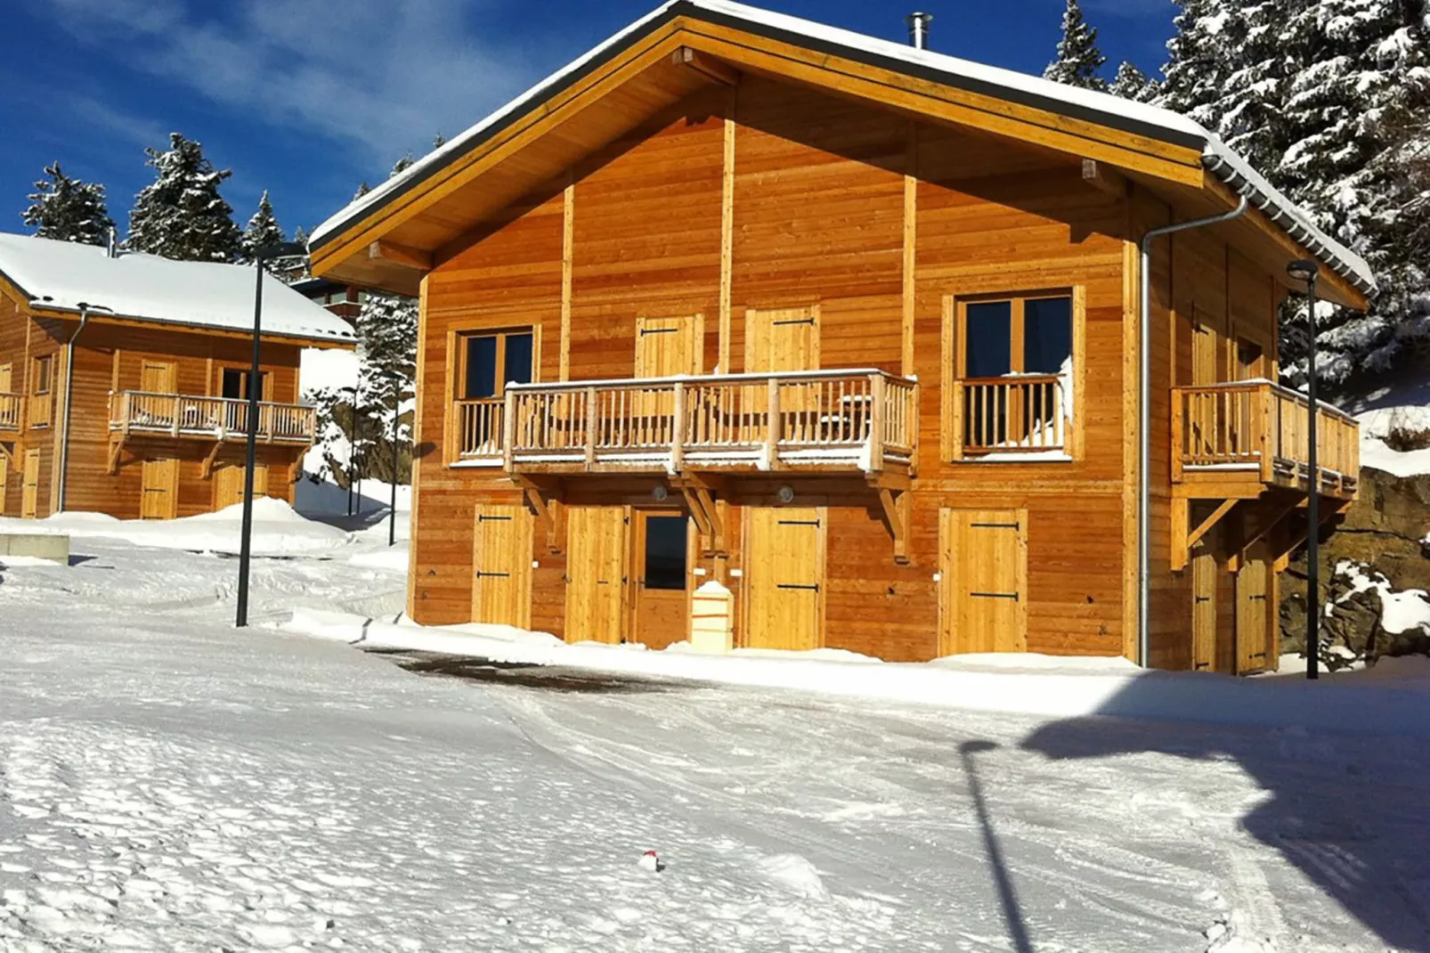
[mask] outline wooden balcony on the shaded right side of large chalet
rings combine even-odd
[[[1320,404],[1320,402],[1318,402]],[[1257,497],[1267,487],[1310,491],[1310,401],[1270,381],[1173,389],[1173,484],[1188,497]],[[1317,408],[1320,492],[1350,499],[1360,475],[1356,419]]]

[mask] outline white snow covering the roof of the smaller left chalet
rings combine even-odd
[[[176,262],[142,252],[116,258],[97,245],[0,233],[0,275],[30,303],[154,321],[167,325],[253,328],[253,268]],[[346,321],[263,276],[263,332],[310,341],[356,341]]]

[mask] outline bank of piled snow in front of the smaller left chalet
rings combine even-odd
[[[114,519],[103,514],[66,512],[47,519],[0,518],[0,531],[106,537],[162,549],[236,554],[242,539],[243,505],[180,519]],[[282,499],[253,501],[253,554],[295,555],[340,549],[352,535],[327,524],[313,522]]]

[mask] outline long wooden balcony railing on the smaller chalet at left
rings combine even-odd
[[[313,408],[299,404],[259,404],[256,436],[267,444],[312,444]],[[109,429],[212,439],[246,439],[249,402],[232,398],[120,391],[110,395]]]

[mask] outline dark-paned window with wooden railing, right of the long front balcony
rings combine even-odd
[[[1077,306],[1070,290],[952,302],[950,459],[1065,458],[1072,446]]]

